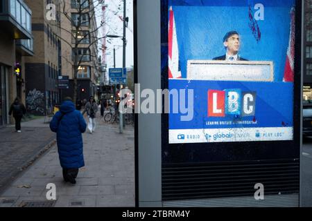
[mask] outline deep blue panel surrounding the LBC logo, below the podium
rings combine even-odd
[[[293,126],[293,83],[285,82],[239,82],[239,81],[188,81],[169,79],[169,88],[189,89],[194,93],[193,119],[181,121],[185,114],[173,112],[173,101],[170,102],[169,129],[200,128],[259,128]],[[227,90],[240,88],[242,92],[257,93],[254,117],[208,117],[208,90]],[[180,104],[179,98],[179,104]],[[291,102],[289,102],[291,101]],[[186,104],[187,101],[186,101]],[[236,121],[257,121],[257,124],[235,124]],[[230,121],[231,125],[206,125],[206,122]]]

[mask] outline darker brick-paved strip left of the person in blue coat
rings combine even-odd
[[[44,117],[21,123],[21,133],[14,125],[0,128],[0,194],[21,171],[55,144],[55,134]]]

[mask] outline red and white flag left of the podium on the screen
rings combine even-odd
[[[169,10],[169,25],[168,25],[168,77],[181,78],[179,70],[179,49],[177,46],[177,32],[175,30],[175,17],[172,7]]]

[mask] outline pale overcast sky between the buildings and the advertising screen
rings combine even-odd
[[[128,28],[126,29],[126,67],[133,66],[133,6],[132,0],[126,0],[127,2],[127,17],[129,17]],[[95,3],[96,4],[96,3]],[[105,16],[105,31],[107,35],[119,35],[123,36],[123,0],[105,0],[106,16]],[[101,12],[101,7],[98,12]],[[101,23],[102,17],[98,15],[98,25]],[[103,30],[99,31],[100,37],[103,36]],[[98,45],[101,46],[103,41]],[[121,38],[106,39],[106,63],[107,68],[114,67],[114,46],[116,48],[116,68],[122,68],[123,66],[123,41]],[[102,53],[101,53],[102,55]]]

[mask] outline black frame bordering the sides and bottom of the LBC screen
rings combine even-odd
[[[161,13],[168,15],[168,0],[162,0]],[[293,140],[262,142],[220,142],[169,144],[168,114],[162,114],[162,164],[189,164],[207,162],[253,162],[300,159],[301,117],[301,48],[302,1],[295,6],[295,76],[293,106]],[[161,15],[162,61],[168,58],[168,17]],[[166,59],[168,62],[168,59]],[[168,88],[168,63],[162,64],[162,90]]]

